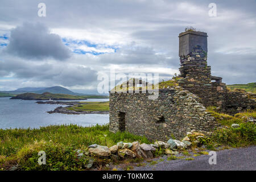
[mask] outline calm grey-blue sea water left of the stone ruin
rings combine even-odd
[[[88,99],[86,102],[104,102],[109,99]],[[0,129],[39,128],[40,126],[76,124],[80,126],[102,125],[109,122],[109,114],[48,114],[58,106],[36,104],[36,101],[10,100],[0,98]]]

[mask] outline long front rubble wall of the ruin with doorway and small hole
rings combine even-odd
[[[150,140],[182,138],[188,131],[212,131],[219,124],[205,112],[198,97],[179,87],[159,90],[157,100],[149,93],[110,93],[110,131],[119,131],[119,113],[125,113],[125,130]]]

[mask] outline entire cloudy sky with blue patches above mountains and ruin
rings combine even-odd
[[[212,2],[216,17],[208,15]],[[187,26],[208,33],[212,75],[226,84],[255,82],[255,7],[255,0],[1,0],[0,90],[97,92],[97,76],[110,68],[171,78],[179,73],[177,36]]]

